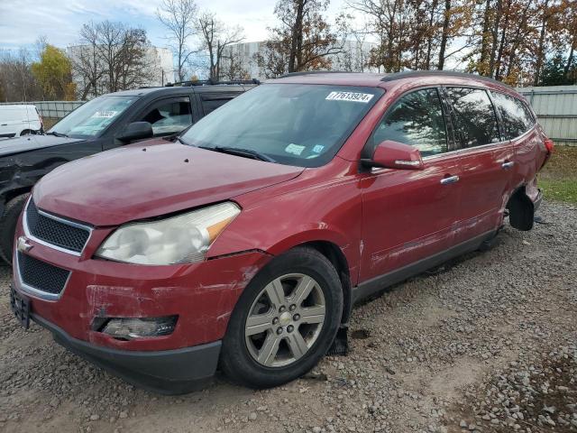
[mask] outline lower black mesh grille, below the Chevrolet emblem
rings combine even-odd
[[[52,295],[60,295],[70,274],[66,269],[41,262],[23,253],[18,253],[18,271],[24,284]]]

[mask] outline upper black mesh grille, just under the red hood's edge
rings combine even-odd
[[[32,199],[26,207],[26,225],[32,236],[48,244],[80,253],[87,244],[90,230],[71,224],[41,214]]]

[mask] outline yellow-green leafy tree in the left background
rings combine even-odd
[[[46,44],[41,51],[40,61],[32,63],[32,74],[41,84],[46,99],[74,99],[72,65],[66,53],[53,45]]]

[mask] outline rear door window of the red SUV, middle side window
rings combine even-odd
[[[478,88],[447,88],[453,106],[453,127],[461,147],[498,143],[499,129],[487,92]]]

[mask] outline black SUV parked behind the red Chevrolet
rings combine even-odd
[[[138,140],[175,136],[256,84],[188,81],[110,93],[79,106],[46,134],[1,141],[0,257],[12,261],[14,228],[23,204],[50,170]]]

